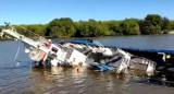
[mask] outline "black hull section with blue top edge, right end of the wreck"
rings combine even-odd
[[[156,50],[149,49],[132,49],[123,48],[125,51],[128,51],[135,56],[144,57],[149,60],[157,62],[157,71],[167,71],[171,68],[174,68],[174,51],[173,50]]]

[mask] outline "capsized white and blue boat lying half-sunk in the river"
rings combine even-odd
[[[108,47],[91,39],[52,43],[41,36],[28,38],[9,24],[1,31],[2,37],[13,37],[25,44],[25,52],[37,64],[85,66],[99,71],[126,73],[127,69],[146,72],[166,71],[174,67],[172,50]]]

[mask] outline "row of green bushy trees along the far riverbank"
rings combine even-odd
[[[48,24],[14,25],[22,34],[29,36],[29,30],[46,37],[96,37],[139,34],[167,34],[174,30],[174,21],[158,14],[148,14],[144,20],[79,21],[70,17],[54,19]],[[23,30],[25,27],[26,30]]]

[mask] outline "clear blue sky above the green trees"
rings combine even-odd
[[[46,24],[53,19],[73,21],[144,19],[160,14],[174,20],[174,0],[0,0],[0,25]]]

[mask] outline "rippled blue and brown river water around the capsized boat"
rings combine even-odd
[[[108,46],[174,49],[174,35],[94,38]],[[0,94],[173,94],[174,86],[149,82],[144,72],[116,74],[88,68],[33,68],[23,43],[0,42]],[[14,60],[20,47],[20,54]]]

